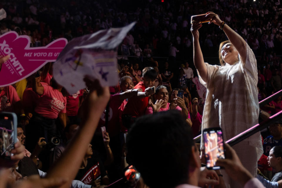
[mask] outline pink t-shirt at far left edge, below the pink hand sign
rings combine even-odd
[[[14,112],[14,105],[20,101],[16,89],[8,85],[0,92],[0,112]]]

